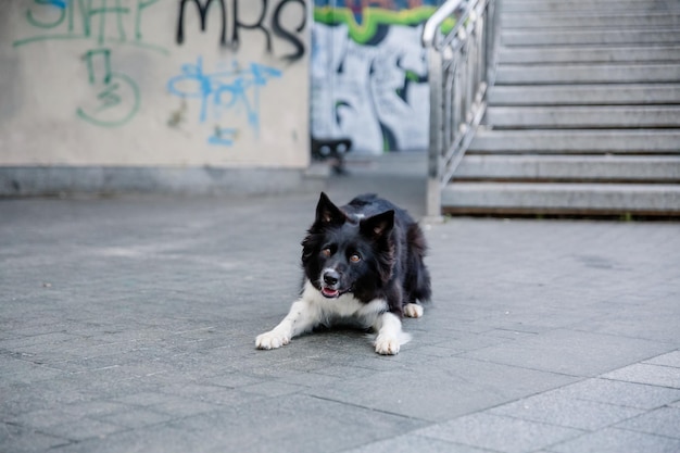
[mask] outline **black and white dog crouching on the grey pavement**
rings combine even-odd
[[[410,340],[402,317],[423,316],[419,302],[430,299],[425,251],[418,225],[389,201],[367,194],[338,207],[322,193],[302,241],[302,294],[256,347],[280,348],[318,325],[351,318],[377,331],[377,353],[399,353]]]

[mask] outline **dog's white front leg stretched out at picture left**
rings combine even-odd
[[[293,302],[288,315],[278,326],[255,339],[257,349],[277,349],[290,339],[313,329],[320,320],[320,313],[313,302],[300,299]]]

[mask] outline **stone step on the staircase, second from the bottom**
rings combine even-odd
[[[647,156],[467,154],[463,158],[453,179],[680,183],[680,154]]]

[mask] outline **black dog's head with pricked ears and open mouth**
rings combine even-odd
[[[394,211],[349,215],[322,192],[316,219],[302,241],[306,277],[328,299],[348,292],[373,299],[392,276],[393,228]]]

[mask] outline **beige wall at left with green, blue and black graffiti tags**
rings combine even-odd
[[[0,165],[307,165],[304,0],[0,8]]]

